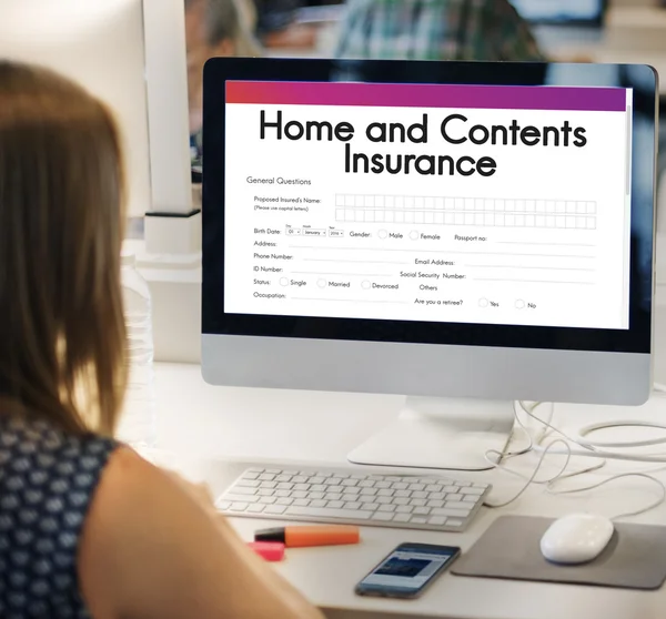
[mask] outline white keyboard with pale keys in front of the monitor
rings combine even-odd
[[[230,516],[462,532],[490,490],[438,476],[253,467],[215,505]]]

